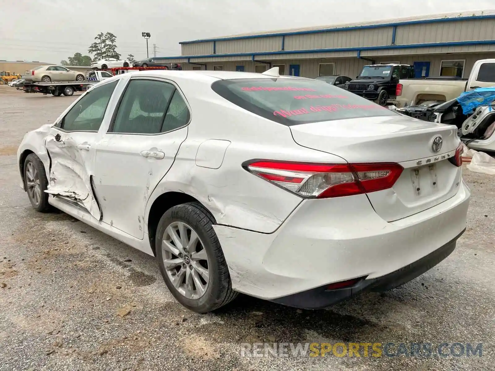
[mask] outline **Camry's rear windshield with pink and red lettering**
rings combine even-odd
[[[365,98],[317,80],[220,80],[211,88],[247,111],[287,126],[396,115]]]

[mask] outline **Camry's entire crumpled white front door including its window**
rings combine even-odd
[[[72,201],[97,220],[101,210],[92,184],[94,144],[117,83],[103,84],[85,93],[45,138],[50,159],[47,192]]]

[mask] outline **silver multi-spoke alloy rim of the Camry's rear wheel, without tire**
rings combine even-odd
[[[165,272],[175,289],[188,299],[199,299],[208,288],[208,255],[198,234],[183,222],[171,223],[161,242]]]

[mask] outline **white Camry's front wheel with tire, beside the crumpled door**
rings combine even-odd
[[[30,153],[24,161],[24,186],[28,194],[29,202],[33,209],[41,213],[50,211],[48,203],[48,179],[45,166],[40,158],[34,153]]]

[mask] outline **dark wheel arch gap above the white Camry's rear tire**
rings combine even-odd
[[[206,210],[208,210],[208,208],[203,203],[201,203],[197,198],[187,193],[177,192],[177,191],[169,191],[162,193],[158,197],[156,197],[156,199],[151,204],[148,212],[147,226],[148,226],[149,244],[151,246],[151,250],[153,251],[154,256],[156,256],[155,234],[158,228],[158,222],[160,221],[161,217],[163,216],[163,214],[165,214],[165,212],[168,209],[187,202],[198,202]],[[211,211],[208,210],[208,212],[212,216],[213,220],[215,220],[215,217],[213,216]]]

